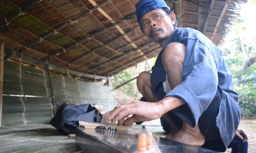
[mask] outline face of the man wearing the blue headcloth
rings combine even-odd
[[[175,15],[167,15],[163,9],[157,9],[143,15],[140,24],[145,35],[154,42],[162,43],[173,31]]]

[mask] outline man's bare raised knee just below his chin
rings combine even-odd
[[[164,49],[162,62],[164,67],[183,63],[185,58],[186,46],[182,43],[170,43]]]

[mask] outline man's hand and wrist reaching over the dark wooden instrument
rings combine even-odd
[[[127,116],[133,115],[125,119]],[[128,104],[115,107],[113,110],[103,114],[106,122],[115,124],[118,120],[118,125],[132,125],[136,122],[145,122],[153,119],[158,119],[163,115],[163,108],[159,102],[143,102],[134,100]]]

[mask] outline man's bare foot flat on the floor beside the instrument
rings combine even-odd
[[[165,138],[192,146],[203,146],[205,142],[204,135],[199,130],[198,125],[195,128],[191,128],[187,123],[183,123],[183,127],[176,134],[172,133]]]

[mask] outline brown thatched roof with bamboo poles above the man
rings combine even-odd
[[[1,0],[0,42],[5,43],[5,59],[22,57],[33,65],[48,60],[64,75],[63,68],[113,76],[161,51],[140,30],[134,14],[138,1]],[[166,2],[174,9],[179,27],[202,31],[220,45],[246,0]]]

